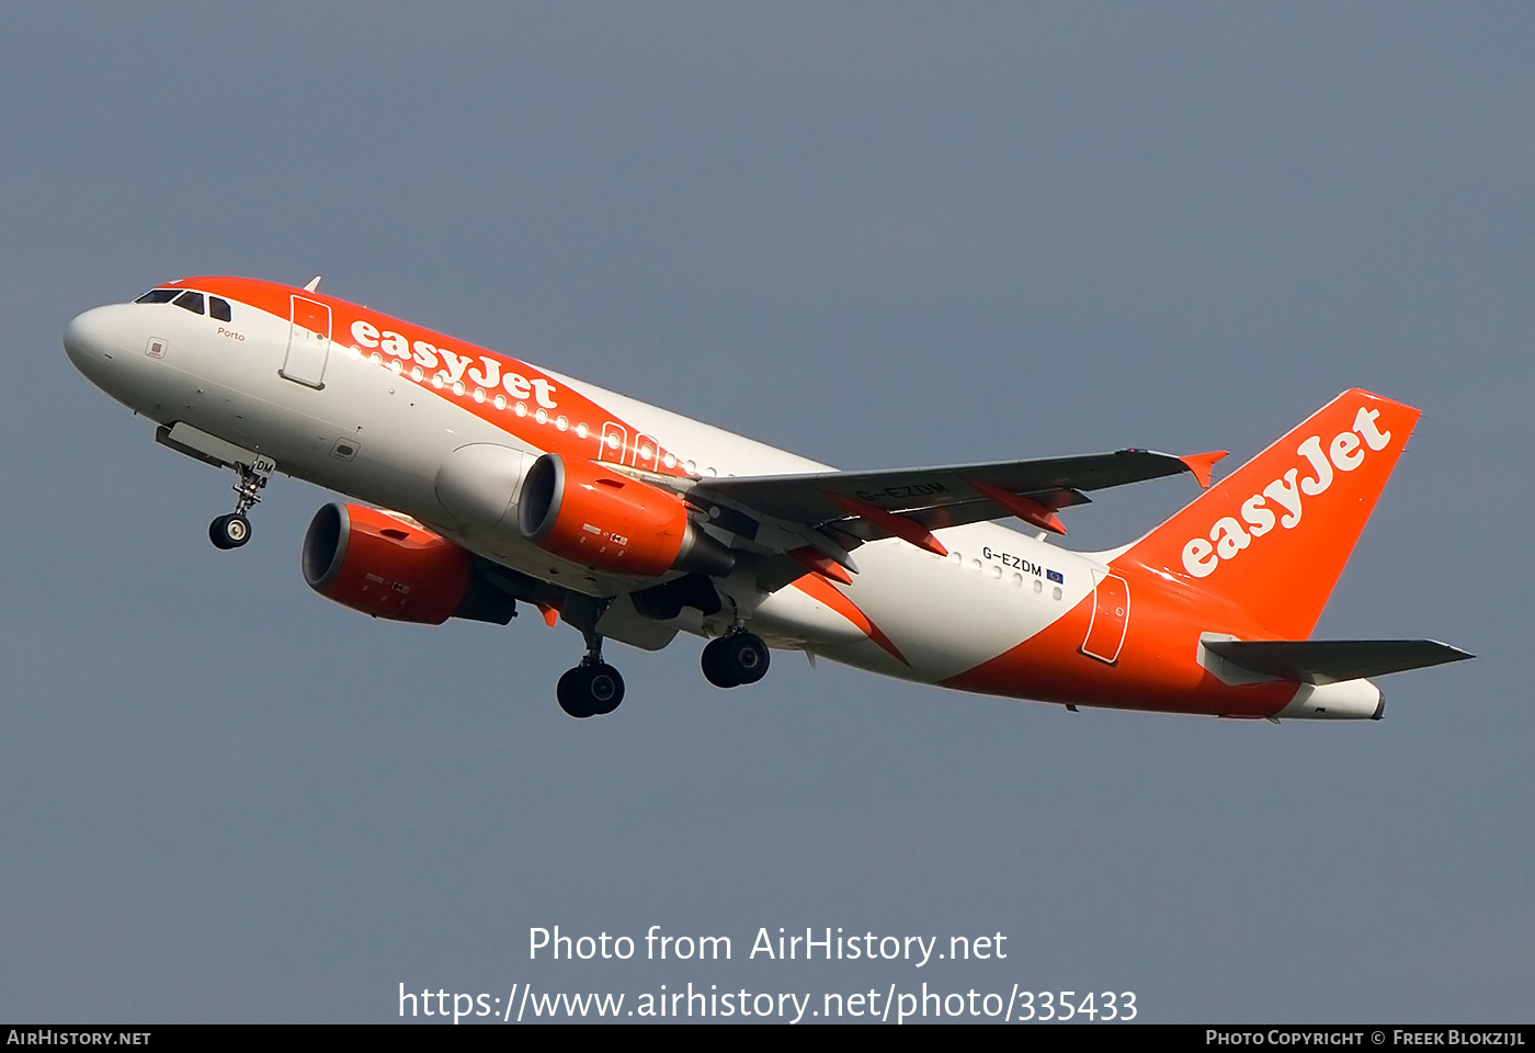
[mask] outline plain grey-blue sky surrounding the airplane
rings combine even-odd
[[[1134,990],[1150,1021],[1529,1021],[1535,11],[1521,5],[0,8],[0,1016],[387,1021],[398,984]],[[1424,411],[1319,635],[1475,663],[1388,720],[1071,715],[791,654],[385,625],[327,496],[69,367],[167,278],[368,302],[843,467],[1243,459]],[[1108,546],[1193,497],[1070,513]],[[729,966],[533,964],[530,926]],[[758,926],[1007,962],[744,961]]]

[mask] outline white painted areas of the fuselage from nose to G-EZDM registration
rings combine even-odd
[[[152,344],[158,353],[146,350]],[[491,444],[533,457],[554,447],[565,428],[597,430],[602,421],[545,411],[545,445],[539,442],[540,430],[530,427],[543,410],[536,401],[530,399],[528,411],[516,418],[522,427],[513,433],[499,427],[494,414],[471,411],[476,393],[470,387],[413,381],[408,371],[391,368],[391,359],[367,352],[344,332],[336,333],[324,358],[322,387],[312,387],[282,375],[289,344],[289,319],[238,302],[230,322],[170,304],[100,307],[75,319],[66,338],[71,358],[87,378],[157,422],[192,425],[266,454],[281,473],[407,513],[500,565],[593,596],[626,591],[622,579],[553,557],[514,531],[467,528],[439,496],[439,473],[465,447]],[[827,470],[582,381],[540,375],[580,394],[582,405],[600,407],[652,436],[700,477]],[[480,391],[480,410],[485,399]],[[511,407],[505,410],[508,424],[513,413]],[[665,646],[678,628],[717,635],[738,614],[775,646],[824,654],[886,675],[942,682],[1038,634],[1088,596],[1107,571],[1091,556],[996,523],[950,526],[936,534],[949,548],[947,557],[895,539],[858,548],[860,573],[841,589],[895,643],[906,663],[870,640],[866,626],[846,611],[806,591],[763,594],[735,580],[721,585],[735,611],[715,620],[685,611],[669,625],[646,623],[620,603],[602,628],[612,639],[654,648]]]

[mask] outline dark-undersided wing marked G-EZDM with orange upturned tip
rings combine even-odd
[[[1084,491],[1122,487],[1191,471],[1208,485],[1210,465],[1225,454],[1174,457],[1151,450],[1117,450],[1079,457],[993,460],[936,468],[826,471],[794,476],[701,479],[694,503],[718,497],[780,520],[832,526],[858,540],[921,540],[941,526],[1018,516],[1065,533],[1055,513],[1090,500]]]

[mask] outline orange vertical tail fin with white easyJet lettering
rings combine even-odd
[[[1345,391],[1113,562],[1185,580],[1303,640],[1418,416]]]

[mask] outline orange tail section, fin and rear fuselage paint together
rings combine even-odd
[[[1225,685],[1199,665],[1199,635],[1306,639],[1417,421],[1411,405],[1345,391],[1114,557],[1130,603],[1111,665],[1081,652],[1094,593],[947,686],[1122,709],[1279,712],[1299,685]],[[1213,456],[1188,460],[1200,470]]]

